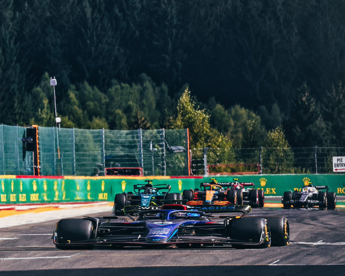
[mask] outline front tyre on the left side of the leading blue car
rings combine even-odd
[[[93,223],[87,219],[61,219],[55,230],[58,249],[91,249],[93,245],[73,245],[69,242],[93,238]]]

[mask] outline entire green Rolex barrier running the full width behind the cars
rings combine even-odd
[[[153,179],[154,184],[171,185],[170,192],[199,188],[201,182],[253,182],[255,188],[264,190],[265,196],[282,196],[284,191],[297,190],[308,182],[328,185],[329,191],[345,196],[345,174],[285,174],[285,175],[240,175],[204,178],[9,178],[0,176],[0,204],[9,203],[54,203],[113,201],[116,193],[133,191],[133,185]]]

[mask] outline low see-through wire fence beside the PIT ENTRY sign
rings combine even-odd
[[[191,174],[334,173],[333,156],[344,147],[191,149]]]

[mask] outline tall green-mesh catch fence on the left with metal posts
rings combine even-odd
[[[23,159],[25,130],[0,125],[0,174],[34,175],[33,153]],[[40,175],[103,175],[111,167],[141,168],[144,175],[188,175],[187,130],[38,126],[38,137]]]

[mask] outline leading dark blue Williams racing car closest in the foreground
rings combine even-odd
[[[213,245],[267,248],[289,243],[289,223],[285,217],[249,217],[246,215],[250,206],[233,206],[227,209],[226,216],[218,217],[178,204],[165,204],[159,210],[126,209],[124,219],[117,216],[61,219],[53,232],[53,242],[59,249]]]

